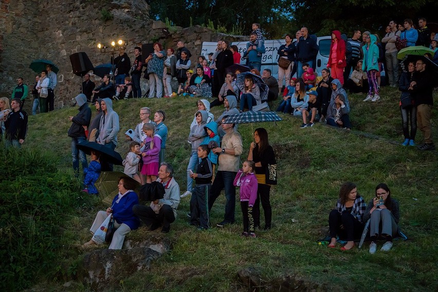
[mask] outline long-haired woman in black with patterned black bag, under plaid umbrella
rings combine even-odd
[[[271,229],[272,209],[269,201],[271,185],[277,184],[277,162],[275,153],[269,145],[268,132],[264,128],[254,131],[254,142],[251,142],[248,160],[255,163],[255,177],[257,177],[257,200],[253,206],[254,227],[260,227],[260,201],[265,213],[264,230]]]

